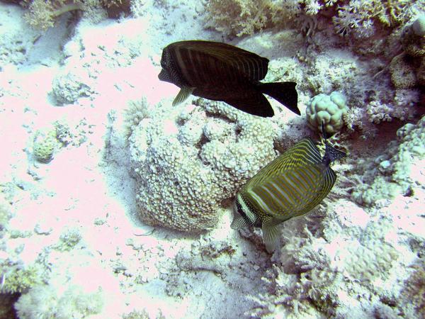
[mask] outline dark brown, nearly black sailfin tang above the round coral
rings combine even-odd
[[[161,66],[159,79],[181,88],[173,105],[193,94],[268,117],[274,113],[267,94],[300,115],[296,83],[261,83],[268,59],[239,47],[200,40],[171,43],[162,51]]]

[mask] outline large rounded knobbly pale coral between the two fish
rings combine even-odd
[[[212,228],[220,203],[276,157],[270,120],[236,112],[232,121],[167,104],[133,126],[128,141],[143,221],[186,232]]]

